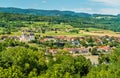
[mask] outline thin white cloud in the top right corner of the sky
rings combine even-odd
[[[120,0],[91,0],[93,2],[100,2],[105,5],[110,5],[110,6],[120,6]]]

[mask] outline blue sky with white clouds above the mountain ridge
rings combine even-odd
[[[0,0],[0,7],[120,14],[120,0]]]

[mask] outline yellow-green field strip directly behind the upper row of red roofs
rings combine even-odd
[[[70,33],[70,32],[65,32],[65,31],[58,31],[58,33],[55,32],[46,32],[44,35],[51,35],[51,36],[74,36],[74,37],[79,37],[79,36],[87,36],[87,35],[93,35],[93,36],[115,36],[115,37],[119,37],[120,33],[116,33],[110,30],[103,30],[103,29],[96,29],[96,28],[86,28],[89,30],[85,31],[85,30],[80,30],[80,32],[77,33]]]

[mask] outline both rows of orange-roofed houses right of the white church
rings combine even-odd
[[[102,41],[102,38],[105,38],[104,36],[103,37],[95,37],[93,36],[92,38],[96,38],[96,42],[97,43],[100,43],[100,44],[103,44],[103,41]],[[115,39],[117,39],[117,41],[119,42],[120,40],[120,37],[114,37]],[[46,42],[46,41],[53,41],[53,42],[62,42],[62,41],[65,41],[65,42],[72,42],[72,44],[74,45],[80,45],[81,43],[78,41],[78,40],[85,40],[86,37],[67,37],[67,36],[46,36],[44,39],[40,40],[40,42]],[[107,37],[105,38],[107,41],[109,41],[111,39],[111,37]],[[106,53],[109,53],[111,51],[111,49],[115,48],[115,47],[110,47],[110,45],[99,45],[99,46],[88,46],[88,47],[85,47],[85,46],[81,46],[81,47],[77,47],[77,48],[63,48],[62,50],[66,50],[72,54],[90,54],[91,50],[93,48],[97,48],[97,51],[99,52],[106,52]],[[60,49],[49,49],[48,51],[52,54],[56,54]]]

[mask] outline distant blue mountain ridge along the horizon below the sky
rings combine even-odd
[[[5,13],[17,13],[17,14],[29,14],[38,16],[76,16],[76,17],[91,17],[91,16],[114,16],[114,15],[102,15],[102,14],[88,14],[88,13],[76,13],[73,11],[59,11],[59,10],[38,10],[38,9],[20,9],[13,7],[0,7],[0,12]],[[120,16],[120,15],[117,15]]]

